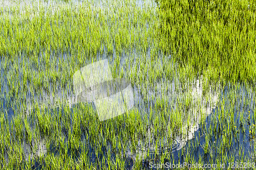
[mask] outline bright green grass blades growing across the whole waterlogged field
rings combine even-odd
[[[5,106],[0,103],[0,166],[32,169],[36,160],[47,169],[96,169],[97,164],[103,169],[123,169],[129,163],[125,162],[122,150],[131,140],[131,152],[137,152],[135,145],[139,138],[147,137],[148,122],[154,125],[155,134],[168,129],[169,143],[172,143],[170,132],[185,136],[186,132],[180,129],[196,123],[190,122],[193,116],[188,114],[189,108],[197,108],[201,131],[199,137],[188,142],[191,150],[179,153],[185,156],[184,161],[193,163],[198,158],[199,163],[204,163],[203,155],[192,153],[197,147],[202,147],[209,162],[236,161],[234,155],[227,155],[225,151],[232,153],[232,144],[239,142],[240,136],[243,139],[255,136],[256,90],[248,83],[255,80],[255,39],[250,38],[255,31],[254,5],[251,3],[248,10],[240,2],[238,5],[230,2],[230,6],[227,2],[211,1],[170,3],[171,10],[165,11],[162,9],[168,7],[140,9],[133,1],[124,1],[122,5],[113,3],[108,12],[86,2],[75,10],[60,6],[51,15],[45,15],[45,8],[41,6],[39,10],[0,9],[0,71],[3,74],[0,87],[4,87],[1,98],[6,98]],[[231,7],[234,11],[228,13]],[[12,13],[12,18],[6,10]],[[241,15],[241,11],[246,11],[246,15]],[[162,20],[166,13],[167,19]],[[245,22],[249,18],[249,22]],[[239,19],[244,25],[236,22]],[[149,119],[141,119],[141,111],[145,110],[136,106],[124,117],[100,122],[91,106],[79,103],[69,108],[63,101],[58,101],[58,107],[35,103],[38,106],[30,114],[24,113],[26,101],[37,99],[44,91],[49,96],[56,95],[58,89],[63,96],[72,92],[74,72],[98,61],[97,56],[104,53],[109,58],[114,78],[126,77],[139,87],[143,102],[150,108],[146,113]],[[169,54],[173,58],[168,60]],[[193,103],[191,96],[193,80],[201,75],[204,98],[210,97],[210,89],[220,93],[225,86],[230,88],[223,100],[219,95],[218,109],[208,124],[204,105],[201,101]],[[162,80],[165,81],[161,83]],[[172,81],[176,96],[168,95]],[[240,81],[245,82],[247,98],[242,94]],[[149,94],[157,90],[161,91],[160,95]],[[172,99],[170,103],[168,98]],[[15,106],[18,109],[14,109],[14,116],[9,120],[7,108]],[[234,119],[237,113],[240,114]],[[31,144],[40,136],[45,138],[47,154],[25,161],[23,140]],[[216,143],[212,142],[212,137]],[[200,143],[204,139],[206,141]],[[156,136],[157,142],[161,140],[161,136]],[[108,148],[108,143],[112,148]],[[105,153],[104,148],[108,152]],[[241,160],[243,152],[240,148]],[[105,157],[100,158],[104,154]],[[93,156],[97,157],[95,163],[90,162]],[[172,154],[165,153],[154,160],[148,159],[163,162],[170,158]],[[143,166],[139,157],[134,164],[135,169]]]

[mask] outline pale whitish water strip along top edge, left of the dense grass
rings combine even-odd
[[[77,1],[77,0],[69,0],[68,2],[65,1],[59,1],[59,0],[47,0],[47,1],[32,1],[32,0],[3,0],[2,3],[0,3],[0,9],[3,9],[2,14],[0,14],[0,18],[5,17],[14,17],[15,13],[11,9],[13,7],[18,7],[20,14],[23,15],[25,13],[25,9],[28,10],[34,10],[34,14],[30,15],[30,18],[38,15],[39,7],[44,8],[45,14],[51,14],[58,12],[59,8],[66,7],[70,8],[70,10],[76,10],[80,6],[83,6],[84,3],[89,3],[94,9],[101,9],[101,12],[113,12],[114,7],[122,7],[123,2],[122,1],[98,1],[98,0],[88,0],[88,1]],[[113,4],[114,3],[114,4]],[[147,8],[156,8],[157,4],[154,1],[146,0],[135,0],[135,3],[133,4],[137,6],[138,8],[147,10]],[[97,14],[96,14],[97,15]]]

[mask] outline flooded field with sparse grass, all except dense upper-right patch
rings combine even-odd
[[[0,8],[2,169],[255,167],[255,82],[181,67],[155,2]]]

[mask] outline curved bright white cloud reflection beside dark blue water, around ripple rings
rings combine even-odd
[[[159,82],[157,83],[157,89],[156,91],[149,91],[148,95],[154,95],[156,98],[164,98],[166,97],[168,99],[169,103],[172,103],[175,101],[175,96],[177,99],[177,91],[175,91],[175,82],[168,82],[168,92],[164,93],[161,92],[162,87],[164,87],[164,83],[166,82]],[[138,140],[137,145],[137,152],[131,154],[131,151],[127,151],[127,156],[132,156],[134,160],[136,159],[145,159],[147,155],[149,154],[150,158],[154,158],[155,154],[160,155],[167,153],[177,153],[177,151],[181,150],[187,143],[188,140],[193,139],[195,132],[199,130],[200,127],[200,121],[202,120],[200,115],[205,115],[207,117],[210,115],[211,111],[216,108],[217,102],[218,102],[218,91],[212,91],[210,89],[210,92],[208,94],[202,95],[203,89],[202,89],[202,77],[201,79],[194,80],[195,86],[191,88],[190,91],[183,93],[184,96],[191,96],[193,99],[192,105],[193,107],[190,107],[186,112],[183,112],[183,115],[181,115],[181,118],[183,119],[183,126],[181,129],[178,129],[178,132],[181,132],[182,135],[168,135],[168,130],[170,129],[170,124],[172,124],[172,119],[170,119],[169,115],[169,123],[167,126],[163,129],[161,129],[161,135],[160,132],[157,134],[154,134],[154,126],[153,124],[149,124],[146,126],[147,134],[146,136],[141,137],[141,139]],[[136,90],[135,90],[136,91]],[[208,98],[206,99],[205,96]],[[135,106],[139,105],[140,107],[145,106],[143,104],[143,96],[139,96],[140,100],[137,100],[135,103]],[[199,102],[197,104],[197,102]],[[151,103],[155,103],[152,101]],[[176,103],[173,102],[172,110],[175,111],[175,105]],[[147,109],[144,108],[144,112],[147,111]],[[141,110],[143,113],[143,109]],[[157,114],[157,113],[156,113]],[[172,114],[172,112],[169,112],[169,114]],[[188,118],[189,117],[189,118]],[[160,126],[161,127],[161,126]],[[172,137],[173,136],[173,137]],[[172,138],[172,145],[169,145],[170,137]],[[160,139],[156,141],[155,139]],[[131,143],[130,147],[131,147]],[[129,149],[128,149],[129,150]]]

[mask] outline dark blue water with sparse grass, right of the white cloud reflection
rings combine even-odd
[[[236,99],[230,98],[230,93],[233,93]],[[221,152],[219,151],[219,146],[224,140],[223,135],[229,135],[232,136],[231,140],[228,141],[230,147],[224,148],[223,151],[226,153],[226,156],[232,157],[232,162],[245,162],[245,160],[246,162],[254,162],[254,136],[251,136],[249,133],[249,126],[255,125],[255,119],[252,119],[252,117],[254,117],[253,110],[255,108],[253,95],[255,96],[251,90],[247,91],[243,84],[238,86],[237,89],[231,85],[226,86],[221,92],[219,101],[220,103],[225,103],[224,107],[219,105],[216,109],[213,109],[212,114],[207,116],[205,124],[203,125],[205,130],[202,130],[202,127],[200,127],[195,133],[195,137],[186,144],[185,148],[189,155],[196,158],[196,161],[200,158],[199,155],[202,156],[201,158],[205,159],[204,162],[217,160]],[[248,100],[248,103],[244,102],[246,100]],[[229,110],[230,106],[233,106],[234,109]],[[235,130],[231,130],[229,133],[223,131],[223,129],[228,126],[227,120],[221,120],[218,116],[222,109],[234,112],[233,117],[229,117],[228,119],[233,119]],[[243,117],[242,121],[241,116]],[[241,130],[243,128],[244,130]],[[205,134],[210,134],[208,138],[202,133],[203,131]],[[199,144],[197,144],[197,140],[200,141]],[[202,146],[205,145],[206,141],[210,143],[209,147],[212,155],[205,153],[203,150]],[[197,147],[193,147],[193,145]],[[227,161],[226,167],[228,163],[232,162]]]

